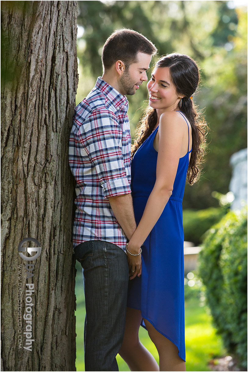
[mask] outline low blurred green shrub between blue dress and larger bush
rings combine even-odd
[[[182,212],[184,240],[192,241],[198,246],[202,242],[204,232],[219,222],[225,214],[225,209],[220,207],[201,209],[200,211],[184,209]]]

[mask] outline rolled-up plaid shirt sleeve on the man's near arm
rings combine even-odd
[[[115,114],[95,110],[79,129],[79,140],[93,164],[104,198],[131,193],[122,154],[122,129]]]

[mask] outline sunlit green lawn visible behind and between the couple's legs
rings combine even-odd
[[[76,347],[77,371],[84,371],[83,353],[83,330],[85,321],[85,302],[83,295],[82,270],[77,267],[76,276]],[[210,359],[215,356],[222,356],[225,350],[222,340],[216,335],[212,325],[212,317],[206,306],[200,306],[200,291],[197,286],[185,288],[185,347],[186,347],[186,369],[187,371],[211,371],[207,366]],[[140,340],[143,345],[152,353],[158,362],[158,352],[150,340],[147,331],[140,327]],[[117,355],[119,371],[130,371],[124,360]]]

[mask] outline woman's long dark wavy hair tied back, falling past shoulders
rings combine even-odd
[[[160,58],[154,68],[160,67],[169,67],[171,80],[178,95],[185,96],[182,98],[181,108],[178,107],[178,110],[184,113],[192,128],[192,153],[187,179],[188,183],[193,185],[200,176],[208,129],[206,122],[200,117],[200,113],[197,111],[194,102],[190,99],[195,93],[199,83],[199,69],[196,62],[191,57],[178,53],[172,53]],[[157,120],[156,109],[148,106],[136,129],[136,139],[131,150],[132,157],[140,145],[154,131]]]

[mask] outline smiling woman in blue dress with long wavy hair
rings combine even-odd
[[[156,63],[147,84],[149,107],[132,149],[138,226],[127,243],[131,282],[119,352],[131,371],[185,371],[182,198],[186,177],[193,185],[203,157],[206,125],[192,102],[198,81],[194,60],[170,54]],[[139,341],[140,324],[158,350],[159,366]]]

